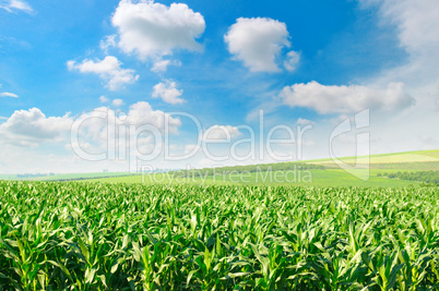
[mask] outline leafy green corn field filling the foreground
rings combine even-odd
[[[438,290],[439,191],[0,182],[0,290]]]

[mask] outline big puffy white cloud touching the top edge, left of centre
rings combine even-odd
[[[175,49],[200,50],[195,40],[205,28],[204,17],[185,3],[166,7],[154,1],[120,1],[112,16],[119,48],[141,60],[168,56]]]

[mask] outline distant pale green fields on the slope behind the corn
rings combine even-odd
[[[355,165],[353,157],[342,159],[346,163]],[[358,161],[365,161],[365,158],[359,158]],[[309,169],[299,171],[297,168],[300,165],[320,165],[323,169]],[[298,165],[296,168],[295,165]],[[312,185],[312,186],[411,186],[418,185],[419,182],[405,181],[400,179],[389,179],[387,177],[378,177],[383,172],[393,173],[400,171],[427,171],[439,170],[439,150],[425,150],[425,151],[407,151],[399,154],[383,154],[373,155],[370,157],[370,177],[369,180],[363,181],[344,170],[340,169],[332,159],[310,160],[300,162],[282,162],[261,165],[270,167],[272,171],[256,172],[257,166],[241,166],[241,167],[225,167],[215,169],[216,172],[226,172],[227,174],[211,175],[203,174],[201,177],[192,178],[189,175],[186,179],[177,179],[171,174],[154,173],[145,175],[130,175],[117,178],[103,178],[85,180],[87,182],[109,182],[109,183],[145,183],[145,184],[229,184],[229,185]],[[294,170],[283,170],[285,168]],[[198,170],[195,170],[198,171]],[[209,170],[207,170],[209,171]],[[238,171],[241,173],[229,173]],[[211,171],[210,171],[211,172]],[[288,174],[282,174],[282,172]],[[294,179],[296,174],[296,179]],[[269,177],[269,178],[266,178]],[[308,178],[310,177],[310,178]]]

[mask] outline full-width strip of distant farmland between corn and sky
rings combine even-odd
[[[341,158],[343,162],[355,166],[352,157]],[[359,157],[357,162],[365,161]],[[104,183],[143,184],[205,184],[205,185],[306,185],[306,186],[412,186],[419,181],[389,179],[384,173],[439,171],[439,150],[419,150],[395,154],[372,155],[369,165],[369,179],[364,181],[340,169],[332,159],[306,160],[252,166],[237,166],[213,169],[195,169],[195,175],[187,174],[179,179],[176,171],[170,173],[68,173],[40,177],[0,175],[0,180],[26,181],[85,181]],[[257,168],[258,171],[256,171]],[[319,168],[320,167],[320,168]],[[262,169],[262,170],[261,170]],[[301,169],[301,170],[300,170]]]

